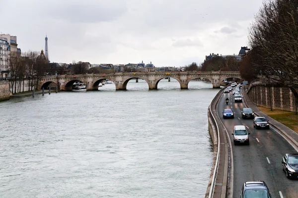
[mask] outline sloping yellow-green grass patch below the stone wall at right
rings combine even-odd
[[[262,106],[258,106],[258,109],[298,133],[298,115],[296,115],[294,112],[275,109],[272,109],[271,111],[270,108],[265,108]]]

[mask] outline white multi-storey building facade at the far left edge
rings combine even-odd
[[[7,41],[0,39],[0,80],[6,79],[9,73],[10,46]]]

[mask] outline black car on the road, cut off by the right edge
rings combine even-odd
[[[298,153],[285,154],[282,160],[283,171],[287,178],[298,178]]]

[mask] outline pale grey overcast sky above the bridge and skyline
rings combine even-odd
[[[238,54],[261,0],[0,0],[2,34],[51,62],[184,66]],[[5,20],[3,20],[3,18]]]

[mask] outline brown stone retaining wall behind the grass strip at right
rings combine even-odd
[[[258,106],[296,112],[295,96],[286,87],[269,87],[262,84],[253,85],[248,90],[249,98]]]

